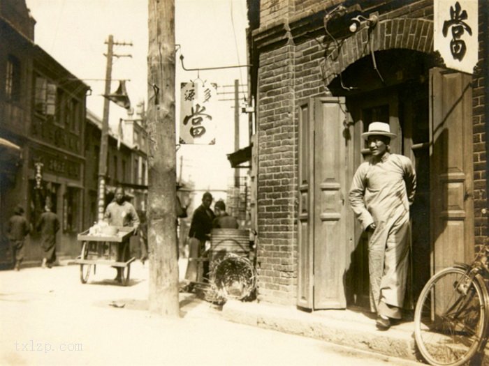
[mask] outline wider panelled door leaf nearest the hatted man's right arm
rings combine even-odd
[[[349,259],[346,106],[344,98],[318,98],[314,109],[314,308],[341,309]]]

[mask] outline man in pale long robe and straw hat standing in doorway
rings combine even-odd
[[[349,200],[363,229],[369,233],[370,309],[377,328],[401,319],[406,290],[409,243],[409,206],[416,192],[416,172],[409,158],[391,154],[396,137],[388,123],[372,122],[367,139],[372,156],[358,167]]]

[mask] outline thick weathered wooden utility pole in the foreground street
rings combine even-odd
[[[175,1],[148,6],[149,311],[178,317]]]

